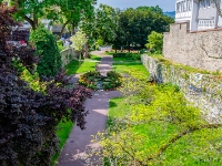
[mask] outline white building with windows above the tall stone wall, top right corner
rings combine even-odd
[[[222,18],[219,17],[213,0],[176,0],[175,22],[188,22],[190,31],[222,27]]]

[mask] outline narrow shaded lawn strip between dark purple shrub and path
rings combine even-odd
[[[72,129],[73,123],[72,122],[64,122],[64,123],[60,123],[58,125],[58,131],[57,131],[57,136],[59,137],[59,148],[62,149],[62,147],[64,146],[67,139],[69,138],[69,134]],[[52,162],[51,162],[51,166],[54,166],[57,164],[57,160],[59,159],[60,153],[56,154],[52,157]]]

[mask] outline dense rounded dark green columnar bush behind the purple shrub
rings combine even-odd
[[[39,75],[54,76],[62,65],[61,55],[53,34],[43,25],[38,27],[30,34],[34,43],[40,62],[37,66]]]

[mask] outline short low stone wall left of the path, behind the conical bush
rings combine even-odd
[[[64,66],[68,63],[70,63],[72,60],[77,59],[80,52],[75,51],[73,48],[69,48],[69,49],[62,50],[60,54],[62,58],[62,66]]]

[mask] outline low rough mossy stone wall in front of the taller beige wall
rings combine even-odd
[[[222,82],[210,74],[189,72],[142,55],[142,63],[158,83],[176,84],[188,101],[203,110],[210,123],[222,123]]]

